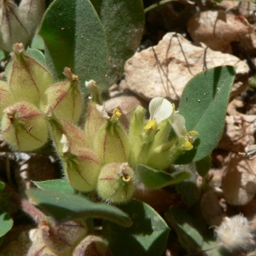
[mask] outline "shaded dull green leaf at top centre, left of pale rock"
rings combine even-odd
[[[108,41],[107,74],[99,84],[108,88],[124,72],[125,61],[137,50],[144,30],[143,1],[90,0],[102,20]]]

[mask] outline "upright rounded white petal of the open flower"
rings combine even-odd
[[[172,115],[172,103],[163,97],[155,97],[149,102],[150,120],[155,119],[159,124]]]

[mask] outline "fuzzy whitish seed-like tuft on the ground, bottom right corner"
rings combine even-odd
[[[253,235],[247,218],[236,215],[224,218],[224,221],[215,229],[220,245],[230,251],[234,249],[249,250],[253,246]]]

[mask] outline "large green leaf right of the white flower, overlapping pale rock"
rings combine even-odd
[[[186,120],[188,131],[199,132],[200,144],[195,150],[182,155],[185,160],[197,161],[210,154],[216,147],[224,129],[224,118],[230,97],[230,89],[236,75],[236,68],[213,67],[195,75],[183,90],[179,113]],[[191,154],[195,154],[191,159]]]

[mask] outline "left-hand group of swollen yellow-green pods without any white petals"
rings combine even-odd
[[[1,133],[11,148],[41,148],[49,135],[58,148],[69,123],[78,122],[83,108],[79,81],[70,68],[64,73],[67,80],[54,84],[49,71],[26,53],[24,45],[15,44],[7,82],[0,82]]]

